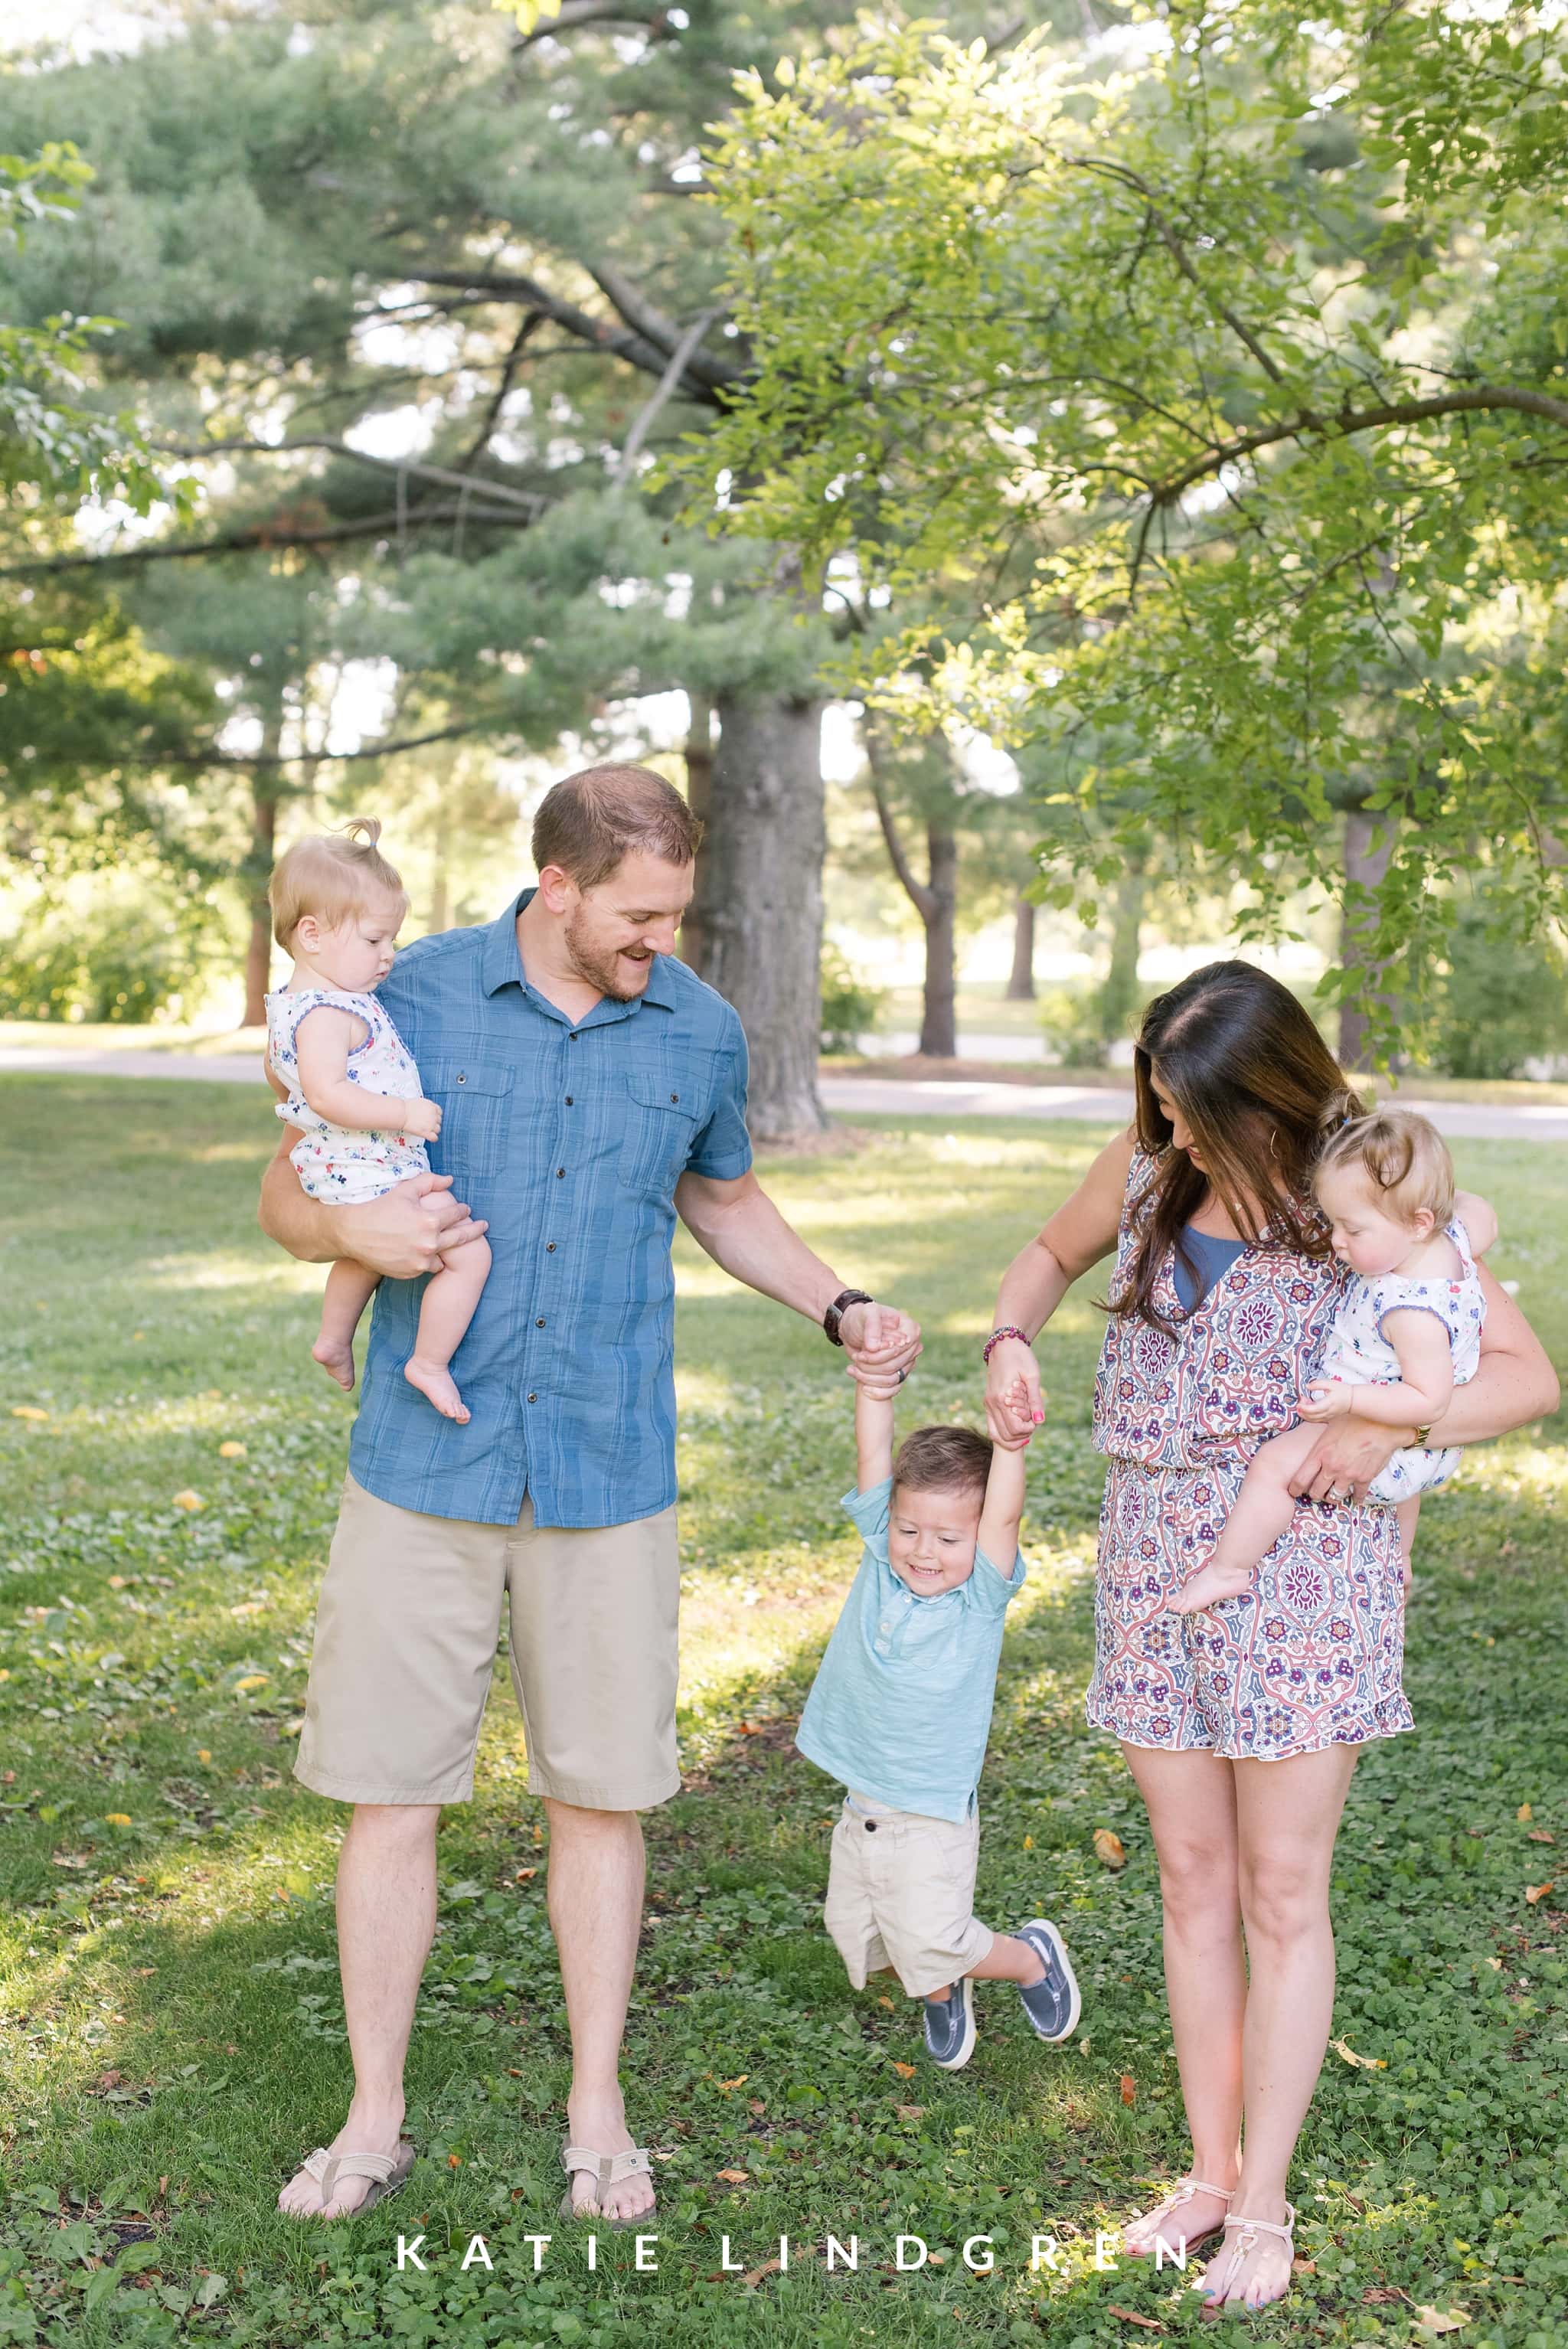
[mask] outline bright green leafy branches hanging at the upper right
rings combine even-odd
[[[1345,897],[1343,815],[1383,813],[1338,984],[1385,1048],[1476,857],[1528,926],[1561,909],[1568,117],[1514,108],[1566,56],[1530,7],[1246,0],[1113,70],[876,28],[746,80],[711,150],[756,378],[695,507],[723,470],[725,529],[894,608],[953,583],[937,658],[922,620],[845,679],[1028,747],[1068,895],[1120,794],[1268,935],[1303,879]]]

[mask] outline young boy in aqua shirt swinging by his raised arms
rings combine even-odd
[[[979,1806],[1007,1602],[1023,1588],[1023,1454],[974,1428],[915,1428],[892,1456],[897,1388],[854,1388],[866,1548],[800,1715],[798,1750],[845,1785],[824,1924],[857,1990],[897,1973],[948,2072],[974,2051],[974,1983],[1016,1983],[1040,2039],[1077,2025],[1077,1983],[1045,1917],[974,1914]],[[1007,1560],[1007,1567],[1000,1564]]]

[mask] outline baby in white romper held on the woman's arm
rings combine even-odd
[[[1333,1318],[1322,1372],[1298,1402],[1300,1426],[1253,1454],[1225,1532],[1171,1600],[1171,1614],[1251,1590],[1263,1555],[1291,1525],[1298,1506],[1291,1478],[1317,1442],[1319,1421],[1354,1412],[1422,1438],[1394,1452],[1366,1487],[1371,1503],[1399,1513],[1406,1581],[1420,1496],[1460,1461],[1455,1447],[1432,1449],[1425,1435],[1481,1362],[1486,1297],[1474,1259],[1498,1238],[1498,1217],[1483,1198],[1462,1193],[1460,1221],[1444,1137],[1413,1109],[1350,1118],[1324,1146],[1312,1189],[1333,1252],[1354,1280]]]

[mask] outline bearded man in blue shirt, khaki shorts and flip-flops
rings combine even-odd
[[[676,1214],[737,1280],[824,1322],[852,1369],[887,1377],[920,1351],[915,1325],[847,1292],[751,1174],[739,1019],[674,961],[697,839],[648,768],[554,785],[533,827],[538,888],[486,928],[420,940],[380,987],[444,1113],[439,1172],[322,1205],[286,1130],[263,1182],[261,1224],[291,1254],[385,1276],[296,1762],[315,1792],[354,1804],[338,1865],[354,2098],[279,2196],[298,2217],[340,2217],[411,2163],[404,2055],[437,1820],[472,1792],[502,1590],[528,1785],[549,1811],[570,2206],[653,2210],[617,2065],[643,1907],[636,1813],[681,1785]],[[477,1231],[493,1268],[458,1353],[472,1412],[458,1426],[401,1365],[418,1276],[437,1243]]]

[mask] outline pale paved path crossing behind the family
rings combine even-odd
[[[73,1052],[70,1048],[0,1045],[0,1071],[35,1076],[162,1076],[207,1085],[263,1085],[258,1052]],[[1077,1118],[1087,1125],[1127,1125],[1131,1088],[1110,1085],[995,1085],[906,1076],[824,1076],[826,1109],[845,1118]],[[1568,1102],[1422,1102],[1441,1135],[1498,1142],[1568,1142]]]

